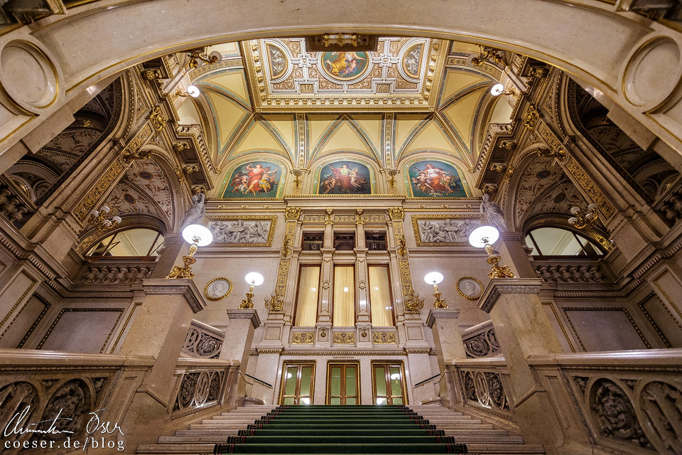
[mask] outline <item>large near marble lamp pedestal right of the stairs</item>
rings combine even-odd
[[[529,355],[561,353],[556,337],[538,298],[539,278],[491,279],[479,301],[490,314],[495,335],[509,368],[511,402],[526,442],[543,444],[554,453],[564,433],[547,392],[534,378],[526,362]]]

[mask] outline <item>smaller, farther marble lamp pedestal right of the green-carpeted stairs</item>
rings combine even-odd
[[[430,309],[428,316],[426,316],[426,325],[433,332],[433,344],[435,345],[435,355],[438,358],[438,371],[440,373],[443,373],[447,368],[445,365],[453,363],[453,360],[465,360],[467,358],[462,333],[460,332],[459,316],[460,310],[450,308]],[[463,401],[449,373],[445,374],[438,385],[444,406]]]

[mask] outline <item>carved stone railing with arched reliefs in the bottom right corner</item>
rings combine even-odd
[[[528,363],[565,437],[610,453],[682,454],[682,349],[531,355]]]

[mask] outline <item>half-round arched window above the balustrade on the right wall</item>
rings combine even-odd
[[[603,256],[587,237],[561,228],[537,228],[526,235],[534,256]]]

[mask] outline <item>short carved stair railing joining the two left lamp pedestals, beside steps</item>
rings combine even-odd
[[[239,363],[232,360],[180,358],[175,370],[171,419],[222,405],[239,380]]]

